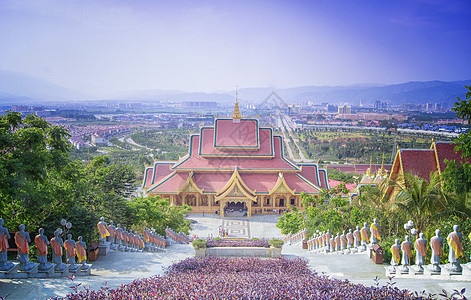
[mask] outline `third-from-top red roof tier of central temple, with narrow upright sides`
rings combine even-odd
[[[275,156],[271,159],[243,158],[243,157],[213,157],[205,158],[198,155],[199,146],[198,135],[193,135],[190,142],[190,156],[182,158],[172,169],[174,170],[224,170],[232,171],[237,166],[242,170],[299,170],[299,168],[288,159],[282,156],[281,137],[273,137]]]

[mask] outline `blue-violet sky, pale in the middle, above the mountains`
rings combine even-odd
[[[471,79],[471,1],[0,0],[0,70],[105,95]]]

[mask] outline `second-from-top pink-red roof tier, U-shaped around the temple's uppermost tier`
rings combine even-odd
[[[200,136],[202,143],[199,153],[202,156],[273,156],[273,132],[271,128],[260,128],[260,147],[253,150],[214,148],[214,128],[212,127],[201,128]]]

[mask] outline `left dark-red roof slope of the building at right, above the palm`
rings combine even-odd
[[[430,172],[438,171],[435,151],[432,149],[401,149],[402,170],[427,180]]]

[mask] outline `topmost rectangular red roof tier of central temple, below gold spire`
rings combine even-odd
[[[251,147],[258,148],[258,121],[242,119],[234,123],[232,119],[214,121],[215,147]]]

